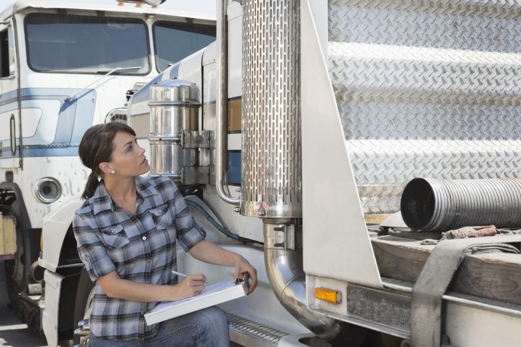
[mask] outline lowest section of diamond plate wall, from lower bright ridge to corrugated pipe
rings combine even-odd
[[[404,183],[414,177],[519,177],[519,141],[348,140],[346,146],[365,213],[398,212]]]

